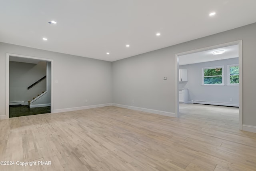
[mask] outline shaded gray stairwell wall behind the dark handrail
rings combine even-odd
[[[34,84],[40,78],[46,76],[46,62],[38,64],[28,64],[23,62],[10,61],[9,68],[9,101],[24,101],[32,100],[41,91],[46,90],[46,79],[36,84],[31,89],[28,86]]]

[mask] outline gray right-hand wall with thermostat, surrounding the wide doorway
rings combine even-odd
[[[256,126],[256,23],[113,62],[113,102],[175,112],[175,54],[242,40],[243,124]],[[168,80],[163,80],[167,76]]]

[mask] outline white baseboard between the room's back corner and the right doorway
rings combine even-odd
[[[121,104],[117,104],[117,103],[113,103],[113,106],[122,107],[122,108],[126,108],[126,109],[132,109],[132,110],[138,110],[138,111],[145,111],[148,113],[154,113],[154,114],[158,114],[158,115],[177,117],[177,115],[175,113],[167,112],[167,111],[160,111],[160,110],[155,110],[155,109],[147,109],[147,108],[128,106],[128,105],[121,105]]]

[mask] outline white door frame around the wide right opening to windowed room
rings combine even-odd
[[[239,61],[239,129],[243,129],[243,70],[242,70],[242,40],[238,40],[238,41],[234,41],[234,42],[228,42],[228,43],[224,43],[224,44],[219,44],[216,46],[210,46],[210,47],[206,47],[206,48],[201,48],[201,49],[196,49],[196,50],[191,50],[188,52],[182,52],[182,53],[178,53],[176,54],[176,65],[175,65],[175,80],[176,80],[176,84],[175,84],[175,96],[176,96],[176,100],[175,100],[175,104],[176,104],[176,115],[177,117],[179,117],[179,56],[181,55],[187,55],[187,54],[192,54],[192,53],[196,53],[196,52],[202,52],[202,51],[206,51],[206,50],[212,50],[212,49],[217,49],[217,48],[222,48],[222,47],[226,47],[226,46],[232,46],[232,45],[238,45],[238,61]]]

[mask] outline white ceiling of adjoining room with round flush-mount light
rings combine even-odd
[[[213,50],[206,50],[202,52],[196,52],[192,54],[182,55],[179,56],[179,64],[180,65],[187,65],[187,64],[196,64],[200,62],[209,62],[209,61],[216,61],[216,60],[224,60],[230,58],[238,58],[238,45],[227,46],[224,48],[217,48]],[[213,55],[212,52],[224,50],[224,54],[220,55]]]

